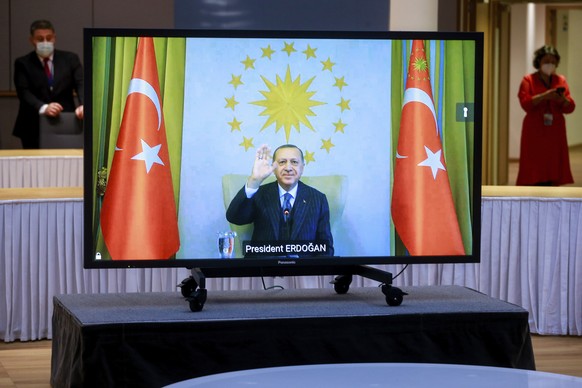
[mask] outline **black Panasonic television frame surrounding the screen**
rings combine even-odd
[[[472,205],[472,252],[446,256],[333,256],[301,259],[281,258],[192,258],[160,260],[95,260],[92,213],[96,197],[92,179],[92,39],[94,37],[216,37],[216,38],[310,38],[310,39],[383,39],[383,40],[468,40],[475,42],[474,163]],[[481,251],[481,157],[483,115],[483,33],[440,31],[267,31],[85,28],[84,42],[84,247],[86,269],[106,268],[204,268],[206,276],[275,276],[348,274],[365,265],[479,263]],[[89,157],[87,157],[87,155]]]

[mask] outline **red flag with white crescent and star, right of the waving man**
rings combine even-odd
[[[411,255],[464,255],[424,42],[412,44],[392,189],[394,227]]]

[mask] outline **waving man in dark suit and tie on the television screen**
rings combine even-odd
[[[259,147],[251,176],[226,211],[227,220],[253,223],[252,241],[326,242],[333,255],[327,197],[299,180],[304,166],[297,146],[280,146],[272,159],[268,146]],[[277,181],[261,185],[272,173]]]

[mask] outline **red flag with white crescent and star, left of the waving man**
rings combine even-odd
[[[113,260],[168,259],[180,247],[153,38],[139,39],[101,230]]]

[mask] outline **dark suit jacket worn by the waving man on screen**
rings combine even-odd
[[[253,223],[253,241],[279,240],[283,213],[277,182],[262,185],[252,198],[243,186],[228,206],[226,219],[235,225]],[[290,240],[327,241],[333,255],[327,197],[301,181],[291,210]]]

